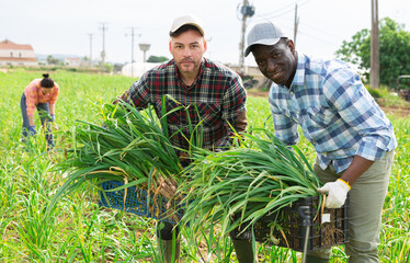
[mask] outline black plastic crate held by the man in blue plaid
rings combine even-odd
[[[306,207],[310,220],[305,221],[309,227],[307,251],[327,248],[349,242],[349,196],[341,208],[318,209],[319,197],[301,198],[292,206],[266,215],[253,226],[257,241],[304,251],[306,227],[299,207]],[[281,219],[278,219],[281,218]],[[234,230],[237,239],[251,239],[252,230],[241,232],[240,228]]]

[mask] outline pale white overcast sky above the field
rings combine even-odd
[[[194,14],[204,22],[208,49],[205,57],[239,62],[243,0],[0,0],[0,41],[30,44],[35,54],[100,58],[104,32],[105,61],[143,61],[139,44],[150,44],[148,58],[169,53],[169,30],[174,18]],[[247,32],[263,20],[276,21],[293,38],[295,5],[296,49],[332,57],[352,36],[372,27],[372,0],[249,0],[254,15]],[[410,31],[409,0],[378,0],[378,18],[390,18]],[[91,37],[90,37],[91,34]],[[253,57],[244,65],[255,66]]]

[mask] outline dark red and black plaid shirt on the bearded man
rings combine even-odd
[[[247,100],[246,90],[237,73],[203,58],[196,80],[186,87],[172,59],[147,71],[134,82],[128,90],[127,101],[136,107],[152,104],[157,115],[161,117],[162,98],[166,94],[173,99],[167,98],[167,112],[181,105],[189,106],[192,126],[195,128],[202,122],[203,148],[225,148],[231,144],[234,132],[229,124],[237,128],[238,114],[246,111]],[[172,145],[187,149],[190,127],[185,111],[168,114],[167,122]]]

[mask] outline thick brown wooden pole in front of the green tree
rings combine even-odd
[[[378,0],[372,0],[372,45],[371,45],[371,88],[378,89],[379,83],[379,43],[378,43]]]

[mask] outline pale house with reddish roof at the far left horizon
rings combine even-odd
[[[37,66],[32,45],[15,44],[9,39],[0,42],[0,66]]]

